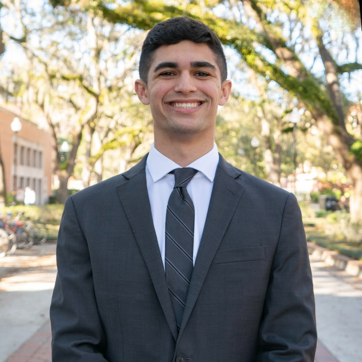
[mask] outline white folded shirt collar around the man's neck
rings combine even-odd
[[[187,167],[192,167],[193,169],[202,172],[211,182],[213,182],[218,162],[219,154],[217,152],[217,146],[214,143],[211,151],[193,161]],[[181,167],[155,149],[154,143],[152,143],[151,149],[149,150],[146,165],[153,182],[157,182],[170,173],[170,171]]]

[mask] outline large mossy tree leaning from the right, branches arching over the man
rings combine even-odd
[[[250,68],[286,89],[308,109],[353,183],[351,216],[354,221],[362,221],[362,142],[346,130],[348,102],[340,84],[344,73],[360,70],[362,64],[357,58],[341,63],[328,46],[331,40],[323,28],[327,24],[323,15],[333,12],[332,3],[323,2],[324,11],[318,14],[319,19],[315,15],[315,3],[303,0],[225,1],[224,14],[219,17],[214,15],[220,11],[219,1],[203,1],[203,6],[198,1],[186,6],[143,0],[75,2],[85,11],[97,11],[110,22],[144,30],[159,21],[182,15],[208,23]],[[52,3],[66,6],[70,1],[53,0]],[[306,46],[309,52],[313,50],[316,62],[322,67],[320,74],[314,71],[314,64],[307,67],[303,62]]]

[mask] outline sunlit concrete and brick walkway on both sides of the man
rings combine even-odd
[[[0,325],[5,326],[0,328],[0,362],[51,361],[49,304],[56,276],[55,243],[42,247],[48,248],[49,255],[37,261],[29,258],[26,268],[16,270],[14,263],[19,258],[27,260],[30,251],[11,256],[13,262],[0,260],[0,275],[5,259],[13,268],[13,275],[0,281]],[[311,265],[319,333],[315,361],[362,361],[361,280],[313,257]]]

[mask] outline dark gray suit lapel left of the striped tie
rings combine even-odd
[[[128,180],[117,186],[117,192],[128,217],[156,294],[175,340],[177,326],[167,287],[160,249],[154,230],[146,182],[147,155],[135,167],[123,173]]]

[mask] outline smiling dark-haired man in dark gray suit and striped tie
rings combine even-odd
[[[231,92],[219,40],[199,21],[163,21],[139,69],[154,145],[65,203],[53,361],[313,361],[297,200],[232,167],[214,144]]]

